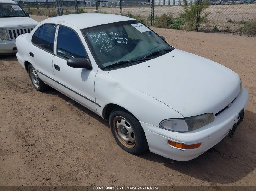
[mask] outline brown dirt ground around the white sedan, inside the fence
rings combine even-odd
[[[33,17],[35,18],[35,17]],[[42,20],[42,17],[36,17]],[[0,57],[0,185],[256,185],[256,38],[154,28],[167,42],[237,72],[248,108],[231,139],[191,161],[115,142],[108,122],[54,89],[36,91],[16,56]]]

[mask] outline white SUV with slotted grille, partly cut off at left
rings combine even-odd
[[[16,38],[38,24],[15,1],[0,0],[0,55],[17,52]]]

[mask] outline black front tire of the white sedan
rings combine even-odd
[[[135,137],[135,143],[133,143],[133,145],[128,145],[128,143],[124,144],[124,141],[121,139],[121,136],[119,136],[117,125],[115,125],[115,121],[118,121],[118,119],[119,121],[121,119],[127,120],[128,125],[132,127],[133,132],[135,133],[135,135],[133,135]],[[117,144],[128,153],[138,155],[148,149],[148,142],[140,122],[127,110],[123,108],[114,109],[109,116],[109,125]]]

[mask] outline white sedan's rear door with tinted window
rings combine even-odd
[[[54,40],[56,24],[43,24],[35,30],[28,45],[30,62],[39,78],[46,84],[55,87],[52,59],[54,55]]]

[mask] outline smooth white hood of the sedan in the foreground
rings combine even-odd
[[[218,113],[237,97],[240,87],[240,78],[232,70],[178,49],[109,74],[184,117]]]

